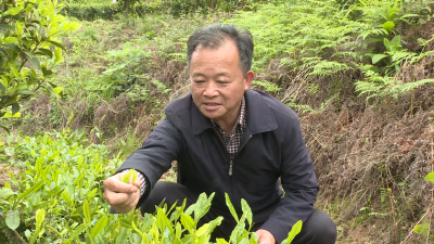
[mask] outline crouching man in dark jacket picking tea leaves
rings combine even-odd
[[[190,37],[191,93],[165,107],[167,117],[142,147],[104,181],[104,197],[117,213],[135,206],[154,213],[163,200],[170,206],[187,198],[190,205],[202,192],[215,192],[202,222],[224,216],[213,237],[228,240],[235,221],[226,192],[238,213],[241,198],[250,204],[260,244],[282,242],[298,220],[303,229],[293,243],[335,242],[335,224],[314,208],[318,183],[298,118],[275,98],[250,89],[252,56],[251,34],[232,25],[213,25]],[[157,182],[175,159],[178,183]],[[140,172],[141,182],[120,182],[128,168]]]

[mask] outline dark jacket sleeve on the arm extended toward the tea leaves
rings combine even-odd
[[[182,137],[179,130],[164,118],[143,141],[143,144],[129,156],[116,170],[135,168],[143,174],[146,180],[146,191],[141,196],[138,206],[148,197],[162,175],[171,167],[171,162],[180,154]]]

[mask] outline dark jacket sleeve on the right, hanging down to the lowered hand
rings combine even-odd
[[[279,125],[281,127],[281,125]],[[275,236],[277,243],[288,237],[292,227],[305,222],[314,211],[318,182],[314,165],[303,139],[299,121],[294,112],[284,126],[281,141],[281,182],[284,190],[279,207],[260,227]]]

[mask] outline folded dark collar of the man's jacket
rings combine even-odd
[[[244,133],[260,133],[271,131],[278,128],[275,116],[270,107],[264,101],[259,92],[248,89],[244,92],[245,105],[247,108],[247,126]],[[191,100],[191,121],[194,136],[204,132],[206,129],[213,129],[213,123],[205,117],[197,106]]]

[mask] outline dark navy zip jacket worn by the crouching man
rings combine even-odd
[[[292,226],[306,219],[314,210],[318,190],[314,166],[303,140],[297,115],[271,95],[247,90],[246,129],[240,151],[233,157],[232,175],[229,154],[213,127],[195,106],[191,94],[170,102],[163,119],[118,169],[136,168],[155,185],[159,177],[178,160],[178,182],[197,195],[215,192],[213,208],[228,211],[225,192],[238,213],[241,198],[252,208],[253,216],[280,201],[279,207],[261,229],[270,231],[280,243]],[[281,183],[285,195],[281,198]],[[140,200],[143,202],[145,195]]]

